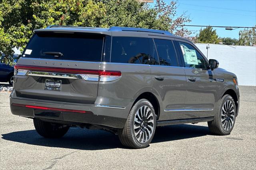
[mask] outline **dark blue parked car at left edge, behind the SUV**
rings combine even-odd
[[[0,57],[0,82],[9,82],[10,85],[13,84],[14,67],[4,63],[5,55],[2,54]],[[14,54],[13,57],[18,57]],[[14,60],[16,63],[16,60]]]

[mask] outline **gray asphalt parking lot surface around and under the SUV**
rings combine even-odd
[[[240,111],[228,136],[207,123],[157,128],[149,147],[124,148],[103,130],[70,128],[60,139],[34,130],[32,119],[10,112],[0,92],[1,169],[256,169],[256,88],[240,86]]]

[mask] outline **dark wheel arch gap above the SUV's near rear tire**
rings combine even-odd
[[[159,105],[159,102],[158,102],[158,99],[156,98],[156,96],[151,93],[151,92],[144,92],[144,93],[141,93],[137,98],[136,100],[134,101],[134,103],[132,104],[132,106],[137,102],[139,101],[140,99],[147,99],[148,101],[150,101],[150,103],[153,105],[154,107],[154,110],[155,110],[155,113],[157,115],[157,119],[159,118],[159,115],[160,115],[160,105]]]

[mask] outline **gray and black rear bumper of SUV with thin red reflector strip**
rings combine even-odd
[[[50,109],[45,109],[46,107]],[[10,96],[10,109],[13,115],[66,122],[73,125],[86,123],[123,128],[127,119],[127,115],[124,114],[126,109],[12,97],[12,94]]]

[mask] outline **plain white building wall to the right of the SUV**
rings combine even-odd
[[[205,56],[206,45],[196,43]],[[256,47],[210,44],[208,59],[218,60],[220,68],[235,73],[239,85],[256,85]]]

